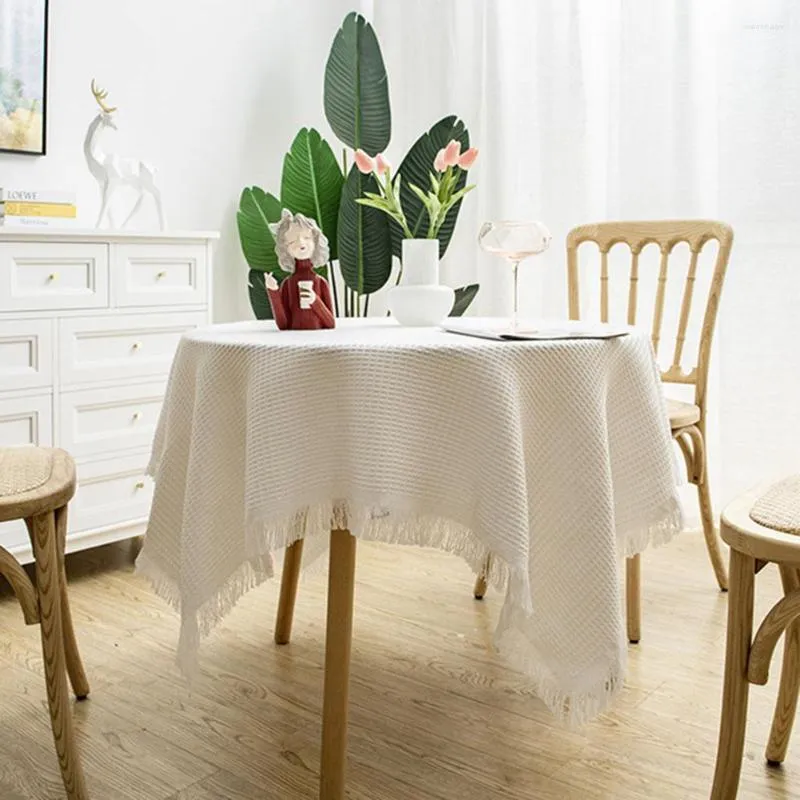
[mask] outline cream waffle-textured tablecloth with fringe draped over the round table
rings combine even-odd
[[[649,340],[338,325],[237,323],[180,343],[138,567],[181,613],[183,670],[272,575],[271,551],[346,528],[475,571],[491,553],[500,652],[557,716],[600,713],[625,672],[621,557],[681,525]]]

